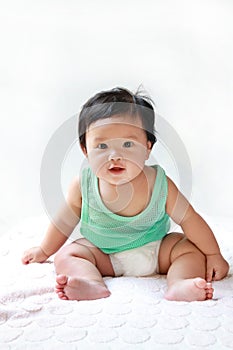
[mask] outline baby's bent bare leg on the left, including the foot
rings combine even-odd
[[[60,299],[93,300],[110,295],[102,276],[114,276],[108,255],[86,239],[63,247],[55,256]]]

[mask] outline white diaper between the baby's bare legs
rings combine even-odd
[[[158,253],[161,240],[142,247],[110,254],[115,276],[150,276],[158,273]]]

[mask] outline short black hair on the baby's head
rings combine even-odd
[[[156,142],[155,113],[152,104],[151,98],[141,95],[139,91],[134,94],[125,88],[116,87],[97,93],[82,106],[79,114],[78,131],[81,147],[86,148],[86,131],[93,122],[113,115],[129,114],[140,117],[152,148]]]

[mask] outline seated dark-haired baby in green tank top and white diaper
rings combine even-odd
[[[55,290],[63,300],[110,295],[104,276],[167,274],[167,300],[211,299],[212,280],[228,273],[214,234],[159,165],[151,100],[115,88],[90,98],[79,116],[88,160],[71,184],[67,206],[24,264],[55,255]],[[169,232],[170,218],[183,233]],[[83,238],[64,245],[80,222]],[[64,246],[63,246],[64,245]]]

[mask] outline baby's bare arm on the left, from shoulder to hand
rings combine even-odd
[[[40,246],[24,252],[23,264],[44,262],[63,246],[79,222],[81,201],[79,181],[75,179],[68,191],[66,206],[58,213],[54,222],[49,225]]]

